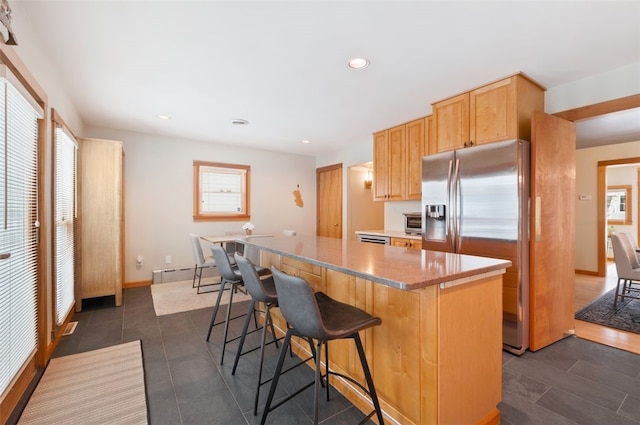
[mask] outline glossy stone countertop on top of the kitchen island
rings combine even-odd
[[[237,241],[403,290],[455,286],[502,274],[511,266],[507,260],[316,236]]]

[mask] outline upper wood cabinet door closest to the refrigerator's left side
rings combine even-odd
[[[407,196],[406,199],[422,198],[422,157],[427,155],[425,143],[427,118],[420,118],[406,124],[407,136]]]

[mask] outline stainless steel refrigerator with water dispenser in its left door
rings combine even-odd
[[[529,142],[510,140],[422,160],[422,248],[512,262],[503,346],[516,354],[529,346],[529,155]]]

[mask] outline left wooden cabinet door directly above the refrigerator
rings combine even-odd
[[[469,142],[469,93],[434,103],[433,126],[438,152],[463,148]]]

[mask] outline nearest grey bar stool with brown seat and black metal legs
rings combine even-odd
[[[384,419],[382,417],[382,410],[380,409],[378,396],[373,385],[373,379],[371,378],[367,358],[364,354],[364,348],[362,347],[362,341],[360,340],[360,335],[358,333],[359,331],[372,326],[380,325],[382,320],[379,317],[372,316],[357,307],[338,302],[323,292],[316,292],[314,294],[309,284],[300,277],[288,275],[275,267],[271,267],[271,271],[273,273],[273,279],[278,293],[278,305],[282,315],[289,324],[289,329],[287,330],[282,348],[280,349],[278,364],[273,374],[273,380],[271,381],[271,387],[269,388],[269,396],[267,397],[267,403],[262,413],[261,425],[264,425],[270,411],[295,397],[311,385],[314,385],[315,388],[313,423],[317,424],[320,385],[322,384],[323,379],[326,380],[326,382],[324,382],[324,386],[326,389],[327,401],[329,401],[329,375],[337,375],[347,379],[371,397],[374,410],[369,413],[361,423],[366,422],[375,413],[378,418],[378,423],[383,425]],[[278,386],[278,380],[280,378],[287,349],[291,344],[292,336],[317,341],[314,353],[316,369],[315,380],[287,396],[283,400],[280,400],[272,407],[271,403],[273,401],[276,387]],[[344,338],[353,338],[356,344],[367,388],[349,376],[329,370],[329,346],[327,343],[331,340]],[[324,375],[320,371],[320,353],[323,345],[325,349],[326,362]]]

